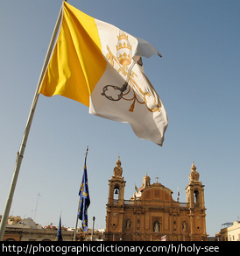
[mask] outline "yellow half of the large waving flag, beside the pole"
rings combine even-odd
[[[59,38],[39,93],[66,96],[89,106],[106,64],[95,18],[65,2]]]

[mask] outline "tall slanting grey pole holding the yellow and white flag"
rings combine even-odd
[[[32,118],[34,116],[34,111],[36,109],[38,99],[39,99],[39,88],[40,88],[43,76],[45,75],[46,68],[47,68],[48,62],[50,60],[51,54],[53,52],[53,46],[54,46],[54,42],[55,42],[56,36],[58,34],[58,31],[59,31],[60,22],[61,22],[61,18],[62,18],[62,13],[63,13],[63,4],[60,8],[60,13],[59,13],[59,16],[57,18],[57,21],[56,21],[56,24],[55,24],[55,27],[54,27],[54,30],[53,30],[53,35],[52,35],[52,38],[50,40],[50,43],[49,43],[49,46],[48,46],[48,49],[47,49],[47,52],[46,52],[46,57],[45,57],[45,60],[44,60],[44,64],[43,64],[41,73],[39,75],[39,82],[37,84],[37,88],[36,88],[35,94],[34,94],[33,99],[32,99],[31,109],[30,109],[30,112],[29,112],[29,115],[28,115],[28,118],[27,118],[27,121],[26,121],[26,124],[25,124],[25,132],[24,132],[23,138],[21,140],[19,151],[17,153],[16,163],[15,163],[14,172],[13,172],[12,180],[11,180],[11,187],[10,187],[9,194],[8,194],[8,197],[7,197],[7,200],[6,200],[6,203],[5,203],[4,213],[3,213],[2,221],[1,221],[1,224],[0,224],[0,241],[2,241],[4,239],[4,231],[6,229],[9,213],[10,213],[10,210],[11,210],[12,198],[13,198],[13,195],[14,195],[14,191],[15,191],[15,188],[16,188],[17,181],[18,181],[18,174],[19,174],[19,171],[20,171],[21,163],[22,163],[22,160],[24,158],[25,146],[26,146],[26,142],[27,142],[28,135],[29,135],[29,132],[30,132],[30,128],[31,128],[31,124],[32,124]]]

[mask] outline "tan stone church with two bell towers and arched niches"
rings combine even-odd
[[[196,167],[188,176],[187,203],[173,200],[173,191],[146,174],[141,188],[124,200],[123,168],[118,158],[109,180],[105,240],[206,241],[204,185]]]

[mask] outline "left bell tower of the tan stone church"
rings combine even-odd
[[[124,188],[125,183],[120,157],[116,160],[113,176],[109,180],[109,198],[107,204],[105,239],[119,241],[123,236],[124,226]]]

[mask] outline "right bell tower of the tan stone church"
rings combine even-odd
[[[185,188],[187,205],[190,211],[189,224],[190,238],[192,241],[205,241],[208,237],[206,232],[204,185],[199,181],[199,176],[193,162],[191,173],[188,176],[190,182],[187,184],[187,188]]]

